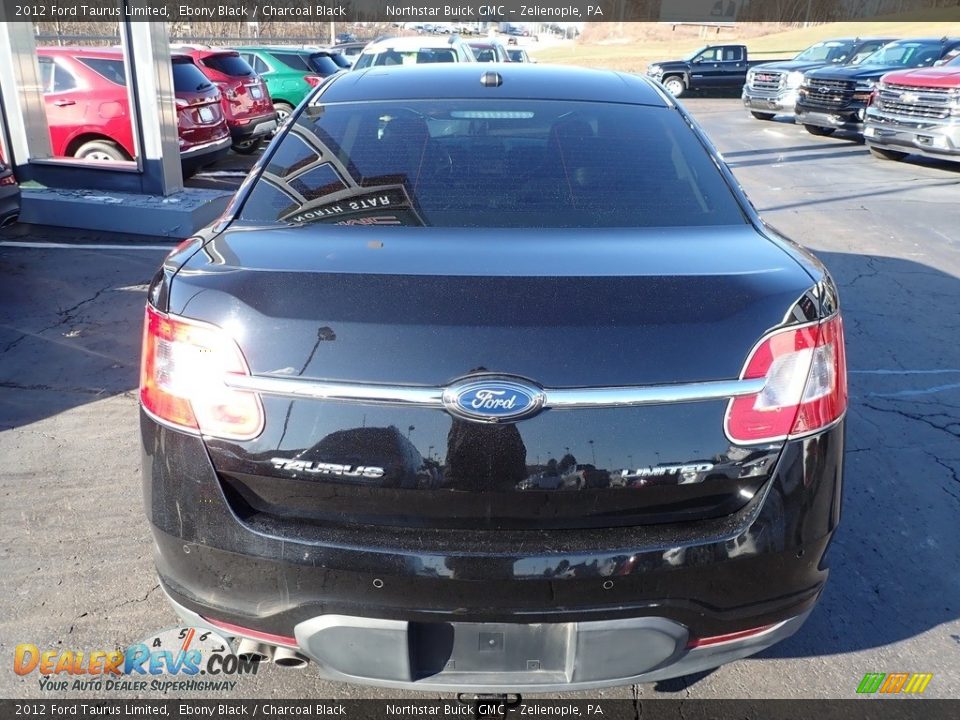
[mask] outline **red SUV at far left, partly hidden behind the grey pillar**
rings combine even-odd
[[[43,47],[37,60],[54,156],[132,160],[136,151],[121,51]],[[180,161],[190,174],[230,151],[230,131],[217,87],[189,56],[174,55],[172,62]]]

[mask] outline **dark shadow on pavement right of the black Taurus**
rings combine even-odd
[[[843,516],[830,579],[758,657],[849,653],[960,615],[960,279],[899,258],[819,253],[840,285],[850,372]],[[938,629],[940,628],[940,629]]]

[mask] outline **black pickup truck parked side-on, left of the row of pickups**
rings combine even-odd
[[[690,90],[743,87],[747,70],[765,62],[770,60],[750,60],[745,45],[707,45],[681,60],[652,63],[647,76],[680,97]]]

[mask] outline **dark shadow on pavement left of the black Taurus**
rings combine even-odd
[[[23,224],[0,233],[0,430],[136,391],[146,288],[166,254],[145,245],[174,243]]]

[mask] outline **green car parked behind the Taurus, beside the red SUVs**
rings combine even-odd
[[[324,78],[350,67],[348,60],[329,50],[283,46],[235,49],[267,84],[278,122],[283,122]]]

